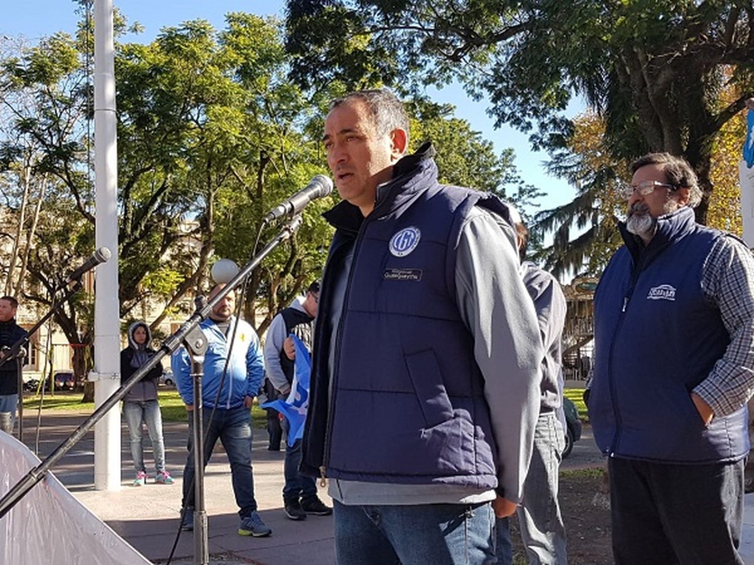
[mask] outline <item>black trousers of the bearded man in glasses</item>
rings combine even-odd
[[[615,563],[742,564],[744,465],[610,458]]]

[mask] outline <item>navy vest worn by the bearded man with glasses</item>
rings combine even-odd
[[[645,249],[624,232],[594,297],[589,417],[605,454],[662,463],[715,463],[749,453],[746,406],[704,426],[691,391],[730,336],[701,288],[722,232],[688,207],[660,218]]]

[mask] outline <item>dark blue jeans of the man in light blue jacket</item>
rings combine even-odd
[[[189,416],[189,458],[183,469],[183,500],[184,508],[194,507],[194,453],[192,450],[194,437],[194,414],[187,412]],[[204,407],[202,414],[202,426],[204,426],[204,466],[212,456],[212,450],[217,443],[217,438],[222,441],[225,453],[228,454],[228,462],[231,464],[231,480],[238,515],[246,518],[252,512],[256,512],[256,499],[254,499],[254,478],[251,469],[251,411],[249,408],[239,406],[230,410],[215,411],[212,423],[210,415],[212,408]]]

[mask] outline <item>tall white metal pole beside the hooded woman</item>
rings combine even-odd
[[[112,256],[97,267],[94,295],[94,404],[120,386],[118,304],[118,145],[115,117],[115,59],[112,0],[94,2],[94,188],[97,249]],[[121,414],[112,408],[94,426],[94,488],[121,487]]]

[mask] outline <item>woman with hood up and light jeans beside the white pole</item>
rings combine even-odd
[[[146,322],[133,322],[128,328],[128,347],[121,351],[121,382],[130,379],[139,367],[146,364],[156,352],[149,344],[152,334]],[[162,416],[157,400],[157,382],[162,374],[162,366],[155,365],[144,378],[130,389],[123,400],[123,414],[128,424],[131,440],[131,456],[136,469],[134,487],[141,487],[146,482],[144,466],[144,448],[142,445],[142,422],[149,430],[152,452],[155,455],[155,483],[173,484],[173,478],[165,469],[165,444],[162,440]]]

